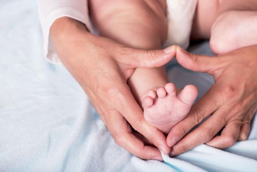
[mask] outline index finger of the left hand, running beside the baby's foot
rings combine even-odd
[[[145,121],[142,109],[135,101],[128,87],[119,86],[119,101],[117,110],[125,117],[128,123],[151,143],[158,147],[164,154],[170,152],[170,147],[166,144],[166,137],[157,128]]]

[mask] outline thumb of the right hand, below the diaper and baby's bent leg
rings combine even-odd
[[[214,71],[220,67],[219,57],[209,57],[196,55],[184,51],[177,46],[176,58],[181,66],[196,72],[206,72],[213,75]]]

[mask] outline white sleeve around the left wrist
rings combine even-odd
[[[92,30],[87,0],[38,0],[38,11],[43,32],[44,57],[51,63],[61,63],[50,36],[51,25],[56,19],[70,17]]]

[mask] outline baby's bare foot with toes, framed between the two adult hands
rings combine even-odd
[[[193,85],[180,91],[172,83],[159,87],[157,91],[150,90],[142,102],[144,117],[149,124],[168,134],[188,114],[197,94]]]

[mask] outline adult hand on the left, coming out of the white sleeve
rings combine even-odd
[[[144,120],[127,80],[136,67],[169,62],[176,46],[151,51],[128,48],[87,32],[83,24],[70,18],[56,20],[51,35],[58,57],[86,92],[115,142],[139,158],[161,161],[157,148],[145,145],[132,133],[130,125],[161,151],[170,152],[165,136]]]

